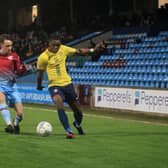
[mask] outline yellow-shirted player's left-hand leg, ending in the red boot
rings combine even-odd
[[[69,125],[68,116],[64,110],[64,93],[61,90],[61,87],[50,87],[49,88],[53,102],[56,105],[59,120],[63,125],[65,131],[67,132],[67,138],[73,138],[73,133]]]

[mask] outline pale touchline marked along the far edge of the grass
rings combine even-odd
[[[24,106],[24,108],[27,108],[27,109],[40,109],[42,111],[50,111],[50,112],[54,112],[56,113],[56,110],[51,110],[51,109],[45,109],[45,108],[38,108],[38,107],[26,107]],[[72,113],[72,112],[70,112]],[[104,115],[96,115],[96,114],[84,114],[85,116],[88,116],[88,117],[96,117],[96,118],[104,118],[104,119],[115,119],[115,120],[128,120],[128,121],[135,121],[135,122],[140,122],[140,123],[145,123],[145,124],[155,124],[155,125],[162,125],[162,126],[168,126],[168,124],[166,123],[155,123],[155,122],[152,122],[152,121],[140,121],[140,120],[133,120],[133,119],[124,119],[124,118],[115,118],[115,117],[110,117],[110,116],[104,116]]]

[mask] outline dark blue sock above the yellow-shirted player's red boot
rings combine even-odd
[[[65,110],[63,109],[59,109],[57,110],[58,111],[58,116],[59,116],[59,119],[64,127],[64,129],[67,131],[67,132],[72,132],[71,131],[71,128],[69,126],[69,122],[68,122],[68,117],[65,113]]]

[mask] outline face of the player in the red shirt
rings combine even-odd
[[[2,44],[0,44],[1,47],[1,53],[2,54],[9,54],[12,52],[12,41],[11,40],[4,40]]]

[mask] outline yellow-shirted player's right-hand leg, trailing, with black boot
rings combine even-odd
[[[78,130],[78,133],[83,135],[84,131],[81,127],[83,113],[80,109],[80,104],[72,84],[68,85],[66,88],[66,101],[68,102],[74,114],[75,121],[73,122],[73,125]]]

